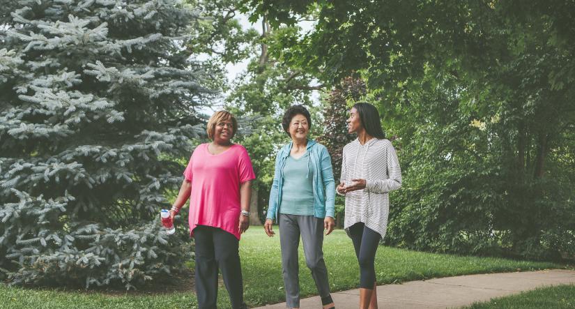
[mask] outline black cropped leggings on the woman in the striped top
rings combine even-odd
[[[360,263],[360,287],[374,289],[376,282],[376,251],[379,246],[381,235],[373,229],[366,227],[364,223],[355,223],[349,227],[349,236],[353,241],[355,256]]]

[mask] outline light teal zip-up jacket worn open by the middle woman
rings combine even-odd
[[[291,152],[293,142],[282,147],[275,158],[275,173],[273,176],[270,202],[268,204],[268,219],[275,219],[279,213],[279,204],[282,201],[282,188],[284,185],[284,165]],[[334,218],[335,213],[335,181],[333,179],[332,159],[328,149],[314,140],[307,140],[307,160],[314,165],[314,217]],[[309,175],[306,175],[309,176]]]

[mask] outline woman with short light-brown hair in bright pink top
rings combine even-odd
[[[240,234],[250,225],[250,182],[255,175],[245,148],[231,142],[237,130],[232,114],[213,114],[207,129],[212,142],[197,146],[192,153],[170,211],[174,218],[190,197],[190,235],[195,240],[195,283],[201,309],[216,308],[218,267],[232,308],[247,308],[238,245]]]

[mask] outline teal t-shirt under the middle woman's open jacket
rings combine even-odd
[[[287,215],[314,215],[314,165],[309,153],[294,159],[289,156],[284,165],[284,184],[279,213]]]

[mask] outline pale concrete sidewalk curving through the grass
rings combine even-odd
[[[423,281],[405,282],[401,285],[377,287],[379,308],[458,308],[475,301],[489,301],[494,297],[516,294],[521,291],[549,285],[575,284],[575,271],[552,269],[519,273],[488,273],[457,276]],[[358,308],[359,289],[332,293],[337,309]],[[302,299],[300,308],[321,308],[319,296]],[[286,308],[286,303],[276,303],[259,308]]]

